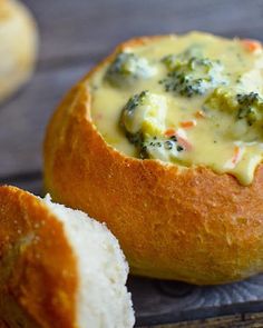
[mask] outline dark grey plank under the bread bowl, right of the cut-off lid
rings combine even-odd
[[[128,286],[133,292],[138,326],[152,327],[158,324],[263,311],[263,276],[211,287],[132,278]]]

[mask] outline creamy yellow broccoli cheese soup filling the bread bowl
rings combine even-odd
[[[201,32],[125,48],[89,82],[91,118],[126,156],[253,181],[263,158],[263,52]]]

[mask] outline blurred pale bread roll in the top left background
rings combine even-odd
[[[17,0],[0,0],[0,102],[32,74],[38,32],[29,10]]]

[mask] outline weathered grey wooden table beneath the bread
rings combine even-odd
[[[66,90],[115,44],[133,36],[192,29],[263,39],[261,0],[25,2],[39,22],[40,58],[30,83],[0,107],[0,182],[36,193],[41,193],[48,118]],[[128,286],[137,326],[263,327],[263,276],[217,287],[130,277]]]

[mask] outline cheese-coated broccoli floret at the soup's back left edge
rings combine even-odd
[[[105,79],[115,87],[130,86],[137,79],[146,79],[155,73],[147,59],[132,52],[119,53],[109,66]]]

